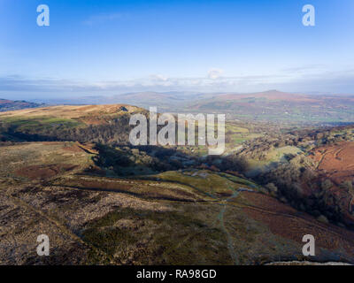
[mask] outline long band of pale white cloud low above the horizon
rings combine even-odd
[[[222,70],[213,69],[208,77],[169,78],[162,74],[136,80],[80,81],[34,80],[19,76],[0,77],[0,97],[14,93],[42,94],[118,94],[134,91],[206,91],[256,92],[281,89],[290,92],[326,91],[354,93],[354,70],[325,72],[294,76],[289,73],[267,75],[221,76]]]

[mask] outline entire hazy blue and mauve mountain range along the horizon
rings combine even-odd
[[[45,103],[126,103],[145,109],[149,109],[150,106],[157,106],[158,111],[161,112],[225,113],[229,119],[311,123],[354,122],[354,96],[304,95],[278,90],[247,94],[136,92],[116,96],[86,96],[49,100]]]

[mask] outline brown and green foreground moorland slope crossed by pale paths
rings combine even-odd
[[[97,154],[74,142],[0,148],[0,264],[266,264],[302,260],[306,233],[318,239],[312,260],[354,263],[354,233],[250,180],[208,170],[106,177]],[[48,257],[35,254],[39,231]]]

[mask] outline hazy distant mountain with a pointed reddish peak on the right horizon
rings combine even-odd
[[[354,96],[309,96],[270,90],[251,94],[220,94],[191,101],[184,109],[226,113],[235,119],[352,122]]]

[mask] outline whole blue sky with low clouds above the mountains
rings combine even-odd
[[[268,89],[354,95],[354,1],[0,0],[1,98]]]

